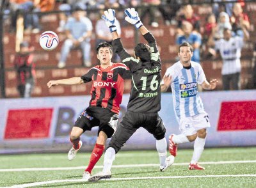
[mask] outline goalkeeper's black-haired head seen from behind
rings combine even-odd
[[[151,59],[151,49],[150,46],[145,43],[138,43],[135,49],[135,56],[140,58],[142,62],[150,61]]]

